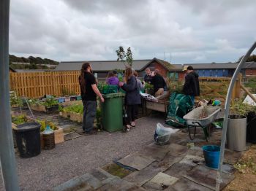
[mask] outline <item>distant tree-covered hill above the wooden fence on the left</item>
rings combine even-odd
[[[12,69],[55,69],[59,64],[57,61],[48,58],[29,56],[29,58],[9,55],[9,62]]]

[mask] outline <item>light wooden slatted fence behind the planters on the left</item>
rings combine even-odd
[[[10,89],[19,96],[39,98],[43,95],[80,94],[80,71],[42,71],[10,73]]]

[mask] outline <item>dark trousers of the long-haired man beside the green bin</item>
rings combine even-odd
[[[94,128],[97,101],[83,101],[83,130],[90,132]]]

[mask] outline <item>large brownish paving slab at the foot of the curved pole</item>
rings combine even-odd
[[[197,165],[197,167],[189,171],[186,175],[184,175],[184,177],[192,182],[203,185],[204,187],[208,187],[211,190],[215,190],[217,170],[206,168],[202,165]],[[235,176],[233,174],[222,173],[222,184],[220,185],[220,190],[222,190],[234,178]]]

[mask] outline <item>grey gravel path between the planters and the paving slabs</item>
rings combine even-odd
[[[37,157],[24,159],[17,156],[20,190],[47,190],[143,149],[154,141],[156,124],[164,124],[164,117],[140,118],[136,128],[129,133],[103,131],[57,144],[55,149],[42,150]],[[4,190],[2,182],[0,190]]]

